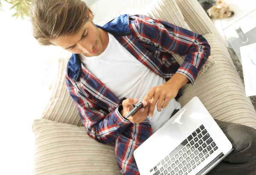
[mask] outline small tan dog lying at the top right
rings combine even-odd
[[[233,17],[234,11],[222,0],[198,0],[210,18],[222,19]]]

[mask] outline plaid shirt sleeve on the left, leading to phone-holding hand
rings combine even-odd
[[[82,123],[91,138],[100,143],[114,143],[116,138],[131,125],[131,121],[120,114],[122,105],[108,112],[84,97],[67,78],[67,75],[66,84],[68,92],[78,107]]]

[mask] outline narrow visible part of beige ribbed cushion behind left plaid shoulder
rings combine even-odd
[[[82,126],[81,118],[65,83],[68,59],[59,59],[58,76],[52,87],[52,95],[41,118]]]

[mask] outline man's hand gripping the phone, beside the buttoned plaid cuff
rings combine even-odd
[[[122,101],[123,109],[121,111],[121,115],[125,117],[132,109],[134,109],[133,104],[136,104],[136,103],[138,103],[138,99],[136,98],[128,98],[126,100],[123,100]],[[131,123],[139,124],[143,122],[148,117],[149,106],[150,105],[146,105],[145,108],[141,108],[138,112],[128,117],[127,119],[130,120]]]

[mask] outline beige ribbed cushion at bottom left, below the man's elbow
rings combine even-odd
[[[113,145],[98,143],[84,126],[35,120],[34,175],[120,175]]]

